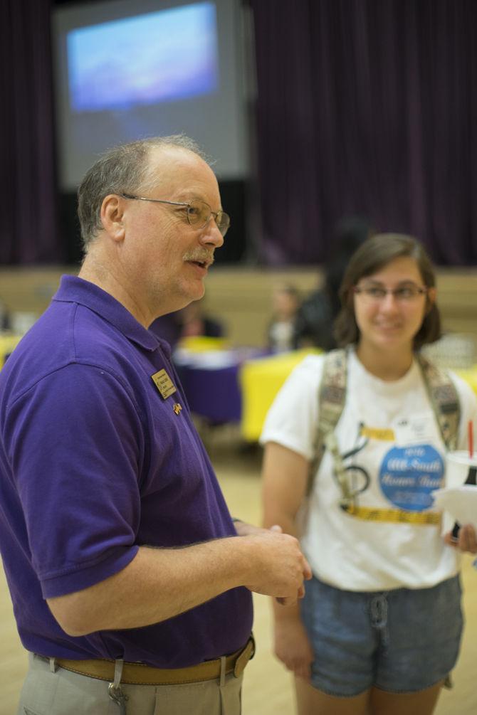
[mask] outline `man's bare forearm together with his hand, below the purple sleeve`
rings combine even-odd
[[[260,530],[186,548],[141,547],[114,576],[48,604],[64,631],[84,636],[158,623],[236,586],[296,598],[304,576],[296,541]]]

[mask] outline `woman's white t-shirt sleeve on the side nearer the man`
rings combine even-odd
[[[321,355],[309,355],[290,373],[267,413],[260,444],[276,442],[308,460],[314,458],[323,360]]]

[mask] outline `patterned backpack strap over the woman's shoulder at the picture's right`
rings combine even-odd
[[[453,451],[457,447],[458,428],[461,421],[461,403],[456,385],[446,370],[441,370],[421,353],[416,355],[423,373],[436,420],[446,448]]]

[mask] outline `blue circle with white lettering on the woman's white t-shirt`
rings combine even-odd
[[[443,473],[443,459],[432,445],[393,447],[380,465],[379,483],[398,508],[423,511],[432,506],[431,494],[442,486]]]

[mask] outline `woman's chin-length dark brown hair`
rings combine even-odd
[[[361,278],[373,275],[395,258],[408,256],[418,265],[424,285],[433,288],[436,275],[423,245],[412,236],[381,233],[372,236],[350,258],[340,287],[341,310],[335,320],[335,340],[341,347],[358,342],[360,331],[355,319],[353,289]],[[414,337],[414,350],[441,337],[441,316],[436,302],[428,301],[426,315]]]

